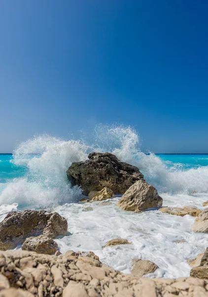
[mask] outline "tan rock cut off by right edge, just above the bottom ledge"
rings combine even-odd
[[[205,253],[199,254],[190,265],[192,266],[190,272],[192,277],[208,279],[208,247]]]

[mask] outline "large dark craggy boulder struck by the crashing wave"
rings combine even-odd
[[[144,180],[136,166],[121,162],[109,152],[92,152],[84,162],[74,162],[67,171],[72,186],[81,186],[83,194],[101,191],[124,194],[136,181]]]

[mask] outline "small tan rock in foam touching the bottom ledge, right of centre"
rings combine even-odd
[[[153,273],[159,268],[154,262],[149,260],[133,259],[132,262],[132,274],[140,277],[148,273]]]

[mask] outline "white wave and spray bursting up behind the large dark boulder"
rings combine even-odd
[[[158,156],[140,151],[140,139],[130,127],[99,125],[89,144],[65,141],[47,135],[23,142],[14,151],[13,162],[28,168],[24,178],[8,183],[0,195],[0,203],[18,202],[39,206],[76,201],[81,191],[70,189],[66,171],[72,162],[84,161],[91,151],[110,151],[125,162],[136,165],[147,182],[166,193],[208,191],[208,167],[170,169]]]

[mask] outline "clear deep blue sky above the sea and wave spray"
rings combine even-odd
[[[208,152],[208,2],[0,0],[0,152],[88,122]]]

